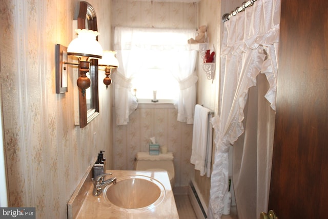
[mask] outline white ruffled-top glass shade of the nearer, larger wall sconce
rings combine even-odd
[[[78,34],[75,39],[67,47],[68,55],[74,55],[78,58],[83,56],[92,58],[101,58],[103,55],[103,48],[96,40],[99,33],[93,30],[76,29]]]

